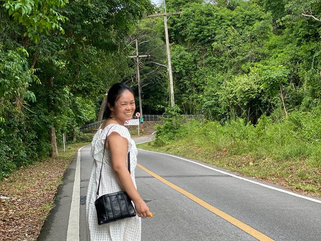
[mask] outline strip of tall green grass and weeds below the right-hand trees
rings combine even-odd
[[[254,126],[244,119],[219,122],[191,121],[177,126],[168,119],[157,126],[155,145],[202,147],[209,151],[227,149],[231,155],[251,154],[275,160],[306,159],[321,166],[321,110],[293,111],[288,118],[275,122],[273,116],[262,115]]]

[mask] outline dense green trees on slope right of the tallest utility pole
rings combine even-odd
[[[288,112],[319,104],[321,23],[302,15],[319,16],[318,1],[168,4],[173,11],[180,5],[169,32],[175,94],[185,113],[255,124],[280,106]]]

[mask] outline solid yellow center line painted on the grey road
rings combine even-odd
[[[272,238],[266,236],[265,234],[259,232],[258,230],[254,229],[253,227],[241,222],[240,220],[232,217],[231,215],[221,211],[220,209],[217,209],[216,207],[213,207],[211,204],[207,203],[206,201],[202,200],[201,198],[198,198],[197,196],[193,195],[192,193],[184,190],[183,188],[180,188],[179,186],[176,186],[175,184],[167,181],[161,176],[158,176],[156,173],[148,170],[147,168],[141,166],[140,164],[137,163],[137,166],[153,176],[154,178],[158,179],[159,181],[165,183],[166,185],[172,187],[176,191],[182,193],[183,195],[187,196],[188,198],[192,199],[196,203],[200,204],[201,206],[205,207],[209,211],[215,213],[216,215],[222,217],[226,221],[232,223],[233,225],[237,226],[238,228],[242,229],[243,231],[247,232],[251,236],[255,237],[256,239],[260,241],[274,241]]]

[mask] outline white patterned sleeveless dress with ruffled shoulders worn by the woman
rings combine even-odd
[[[110,131],[108,132],[108,130]],[[115,222],[98,225],[95,209],[96,191],[99,181],[100,165],[103,155],[104,141],[106,135],[117,132],[128,140],[128,152],[130,153],[130,175],[136,187],[135,167],[137,164],[137,149],[134,141],[124,126],[110,124],[104,129],[98,129],[91,142],[91,155],[94,158],[94,165],[91,171],[88,192],[86,198],[87,236],[90,241],[140,241],[141,219],[135,217],[125,218]],[[110,153],[106,149],[103,161],[99,196],[123,190],[118,178],[111,167]],[[126,160],[127,167],[127,160]]]

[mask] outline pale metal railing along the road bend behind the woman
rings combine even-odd
[[[148,122],[148,121],[162,121],[164,118],[169,118],[170,115],[167,115],[167,114],[143,114],[142,117],[145,122]],[[136,119],[135,116],[133,116],[132,118]],[[177,119],[180,119],[182,121],[186,121],[188,119],[198,119],[199,121],[203,122],[204,115],[203,114],[182,114],[182,115],[178,115]],[[100,121],[100,122],[90,123],[88,125],[80,127],[79,131],[80,132],[89,132],[89,131],[97,130],[103,122],[104,122],[104,120]]]

